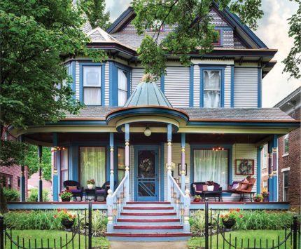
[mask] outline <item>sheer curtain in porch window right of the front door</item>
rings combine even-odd
[[[195,149],[194,152],[194,182],[214,181],[227,189],[228,151]]]

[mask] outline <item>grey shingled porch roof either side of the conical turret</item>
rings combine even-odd
[[[106,116],[120,107],[84,107],[78,115],[66,115],[66,120],[106,120]],[[297,122],[279,108],[177,108],[186,112],[189,121],[229,122]]]

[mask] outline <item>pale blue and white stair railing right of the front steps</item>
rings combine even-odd
[[[190,215],[190,195],[189,189],[186,189],[185,194],[179,185],[172,177],[172,171],[167,171],[167,201],[170,201],[178,219],[183,224],[184,231],[190,232],[189,215]]]

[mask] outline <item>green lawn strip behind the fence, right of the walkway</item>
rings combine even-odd
[[[279,240],[283,241],[285,236],[285,232],[283,230],[240,230],[240,231],[232,231],[230,233],[225,233],[225,238],[230,241],[230,234],[231,234],[231,241],[232,244],[235,245],[235,237],[237,238],[237,248],[241,248],[241,238],[243,238],[243,248],[247,247],[248,239],[249,239],[249,246],[254,248],[260,248],[260,238],[262,239],[262,248],[272,248],[272,241],[274,240],[274,245],[278,243],[278,236]],[[256,243],[254,245],[254,238],[256,239]],[[268,246],[267,246],[268,241]],[[188,241],[189,248],[204,248],[205,246],[205,238],[204,237],[195,237],[191,238]],[[210,247],[210,237],[209,237],[209,247]],[[223,248],[223,238],[218,235],[218,246],[217,246],[217,236],[212,236],[212,246],[211,248]],[[225,242],[225,248],[229,248],[229,244]],[[285,248],[284,245],[280,246],[279,248]],[[286,243],[286,248],[290,248],[290,239]]]

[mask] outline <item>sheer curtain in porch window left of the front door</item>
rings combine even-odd
[[[101,187],[106,181],[106,149],[104,147],[80,147],[80,183],[94,179]]]

